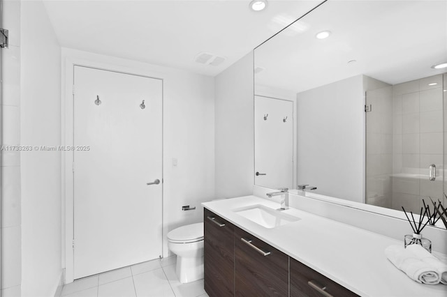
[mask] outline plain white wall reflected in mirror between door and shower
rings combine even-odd
[[[314,185],[322,195],[363,200],[362,87],[358,75],[297,94],[299,184]]]

